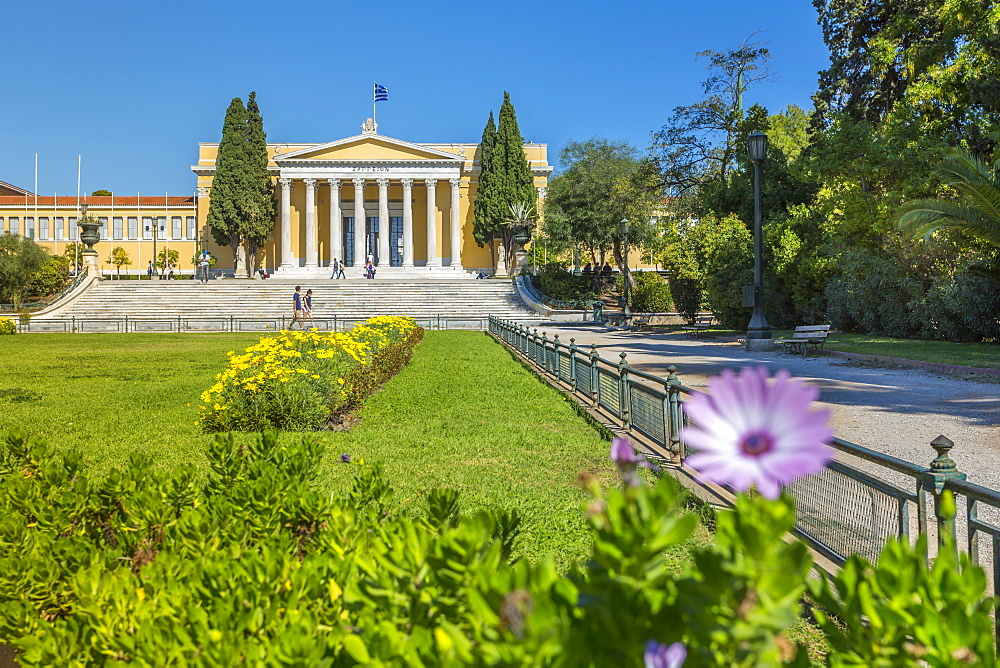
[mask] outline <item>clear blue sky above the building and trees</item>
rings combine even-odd
[[[526,140],[603,136],[646,148],[701,95],[704,60],[754,32],[772,112],[804,108],[827,52],[807,0],[343,2],[149,0],[8,3],[0,181],[39,192],[187,194],[198,142],[218,141],[229,101],[251,90],[272,142],[360,132],[372,82],[389,88],[379,132],[476,142],[511,93]]]

